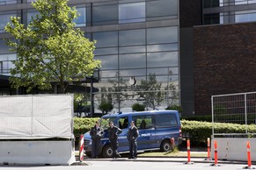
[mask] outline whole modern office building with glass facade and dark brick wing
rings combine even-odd
[[[180,104],[182,115],[210,114],[212,95],[252,91],[256,71],[254,0],[70,0],[84,36],[97,40],[102,61],[94,107],[102,98],[116,111],[133,103],[147,109]],[[0,0],[0,93],[15,94],[6,76],[16,54],[4,26],[37,14],[31,0]],[[255,70],[255,71],[254,71]],[[156,77],[155,86],[145,82]],[[154,79],[153,79],[154,81]],[[2,83],[3,82],[3,83]],[[152,102],[153,100],[153,102]]]

